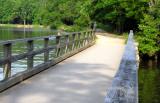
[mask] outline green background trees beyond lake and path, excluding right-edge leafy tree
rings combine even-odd
[[[0,21],[50,25],[52,28],[58,28],[59,25],[88,27],[91,21],[97,21],[121,33],[128,27],[128,20],[132,20],[129,25],[140,20],[147,2],[148,0],[0,0],[0,4],[3,3],[5,7],[1,7],[4,8],[1,10],[4,13],[0,14]],[[13,9],[10,11],[9,7]],[[9,14],[8,20],[4,15],[6,12]]]

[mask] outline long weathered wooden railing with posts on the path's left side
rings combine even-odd
[[[43,48],[35,50],[34,42],[36,40],[43,42]],[[12,54],[13,44],[16,44],[17,42],[26,44],[24,45],[27,49],[26,52],[16,55]],[[56,63],[84,50],[94,43],[95,31],[93,30],[57,36],[45,36],[0,42],[0,45],[3,46],[4,54],[0,59],[0,65],[3,67],[4,77],[0,82],[0,91],[3,91],[8,87],[55,65]],[[52,57],[49,55],[50,52],[54,52]],[[44,62],[34,66],[34,57],[39,54],[44,54]],[[12,63],[25,58],[27,59],[27,69],[12,76]]]

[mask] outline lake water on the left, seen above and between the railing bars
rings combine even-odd
[[[55,35],[55,31],[44,28],[6,28],[0,27],[0,41],[6,40],[15,40],[22,38],[32,38],[32,37],[41,37],[48,35]],[[12,48],[12,55],[24,53],[26,51],[25,43],[16,43]],[[35,49],[42,48],[42,41],[36,41]],[[39,54],[34,57],[34,66],[41,64],[43,62],[43,55]],[[3,58],[3,46],[0,45],[0,58]],[[19,72],[22,72],[27,69],[27,60],[22,59],[17,62],[12,63],[12,72],[11,75],[15,75]],[[3,69],[2,65],[0,66],[0,80],[3,80]]]

